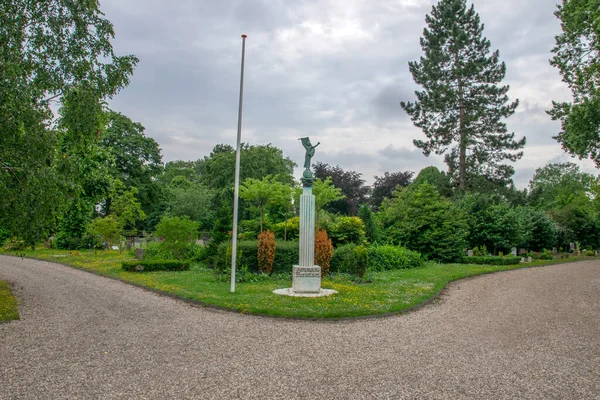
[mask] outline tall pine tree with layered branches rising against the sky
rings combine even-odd
[[[413,143],[426,156],[445,153],[461,191],[477,176],[508,181],[514,169],[501,162],[521,158],[517,150],[525,138],[516,141],[502,122],[519,102],[509,102],[508,86],[498,86],[506,73],[498,50],[490,53],[479,15],[473,6],[467,9],[466,0],[441,0],[425,21],[425,55],[409,63],[424,90],[415,92],[414,103],[400,103],[428,138]]]

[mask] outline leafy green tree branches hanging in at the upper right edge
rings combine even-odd
[[[563,0],[554,14],[562,33],[550,64],[573,96],[573,102],[553,101],[548,111],[562,125],[555,139],[565,151],[600,166],[600,1]]]

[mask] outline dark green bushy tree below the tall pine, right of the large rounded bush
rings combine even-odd
[[[522,240],[520,215],[499,196],[481,193],[467,194],[459,206],[468,215],[469,248],[485,246],[492,254],[508,253]]]

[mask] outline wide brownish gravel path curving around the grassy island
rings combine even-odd
[[[600,399],[600,262],[451,284],[387,318],[237,315],[0,256],[0,399]]]

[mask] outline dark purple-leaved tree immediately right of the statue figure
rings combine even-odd
[[[331,178],[336,188],[341,189],[343,198],[333,200],[327,205],[327,211],[343,215],[356,215],[358,207],[366,203],[369,187],[356,171],[344,171],[339,165],[335,167],[318,162],[314,164],[315,178],[325,181]]]

